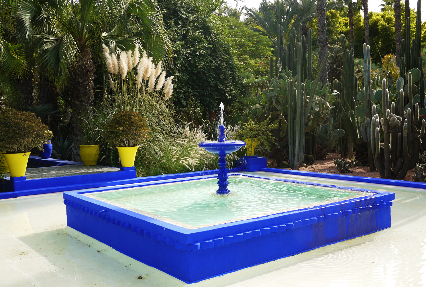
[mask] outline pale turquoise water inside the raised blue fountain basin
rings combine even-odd
[[[85,194],[179,221],[184,225],[205,226],[223,221],[250,218],[294,210],[324,201],[365,195],[348,189],[319,187],[283,181],[230,176],[230,195],[216,195],[217,179],[185,181],[132,189]],[[171,222],[175,223],[175,222]],[[181,225],[182,224],[178,224]]]

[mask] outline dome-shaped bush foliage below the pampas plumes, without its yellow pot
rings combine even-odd
[[[147,120],[138,112],[116,112],[104,127],[104,138],[116,146],[138,146],[148,138]]]

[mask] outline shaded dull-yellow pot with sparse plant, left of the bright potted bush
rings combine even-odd
[[[80,158],[85,166],[96,165],[99,159],[99,144],[96,144],[95,128],[87,121],[81,125],[82,143]]]

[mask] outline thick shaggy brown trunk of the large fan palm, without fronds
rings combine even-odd
[[[83,47],[77,58],[75,69],[70,75],[72,106],[72,155],[74,161],[80,160],[81,123],[83,118],[92,115],[93,80],[95,64],[89,47]]]

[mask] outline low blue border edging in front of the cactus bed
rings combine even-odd
[[[423,188],[426,189],[426,183],[417,181],[403,181],[398,179],[386,179],[386,178],[368,178],[363,176],[348,175],[348,174],[334,174],[334,173],[322,173],[322,172],[306,172],[302,170],[292,169],[276,169],[270,167],[262,167],[259,169],[263,172],[275,172],[289,175],[302,175],[315,178],[328,178],[338,179],[343,181],[359,181],[370,184],[383,184],[383,185],[394,185],[397,187],[412,187],[412,188]]]

